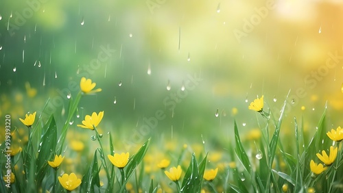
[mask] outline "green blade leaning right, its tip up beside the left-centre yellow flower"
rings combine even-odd
[[[128,162],[128,165],[125,167],[125,174],[126,174],[126,179],[123,185],[121,186],[120,192],[123,192],[126,188],[126,183],[128,183],[131,175],[133,174],[134,170],[136,170],[137,166],[139,163],[142,162],[142,159],[147,152],[147,149],[149,149],[150,146],[150,138],[141,146],[141,149],[130,159]]]

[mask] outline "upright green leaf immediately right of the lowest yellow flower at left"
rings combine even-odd
[[[100,187],[99,166],[97,164],[97,150],[94,152],[93,161],[82,177],[81,192],[94,192],[94,185]]]

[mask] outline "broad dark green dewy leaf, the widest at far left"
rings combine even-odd
[[[47,162],[50,161],[56,153],[57,127],[53,115],[50,116],[44,127],[47,127],[47,129],[45,129],[46,131],[40,139],[40,147],[38,149],[38,157],[36,161],[36,170],[38,171],[36,180],[38,185],[43,181],[47,168],[49,167]]]

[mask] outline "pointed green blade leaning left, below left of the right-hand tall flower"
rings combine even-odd
[[[243,145],[241,144],[241,138],[239,137],[236,120],[234,121],[234,125],[235,125],[234,127],[235,127],[236,155],[239,161],[241,162],[241,164],[243,164],[246,171],[249,172],[249,174],[251,175],[252,169],[251,169],[250,161],[249,161],[248,155],[246,155],[246,151],[244,150]]]

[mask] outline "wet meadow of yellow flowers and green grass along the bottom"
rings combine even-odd
[[[80,100],[102,91],[96,86],[82,77],[80,92],[70,99],[62,128],[57,127],[54,116],[45,120],[37,110],[27,110],[33,113],[19,118],[28,132],[5,127],[10,134],[3,137],[0,146],[0,192],[343,191],[343,129],[339,125],[327,128],[326,106],[313,136],[304,132],[303,120],[298,125],[294,118],[295,134],[285,141],[280,135],[288,95],[277,112],[279,117],[265,107],[262,95],[248,105],[257,113],[260,125],[250,133],[253,139],[241,138],[234,122],[233,144],[225,151],[209,152],[201,144],[167,141],[161,151],[151,138],[134,152],[117,150],[115,146],[121,141],[99,129],[106,112],[93,112],[77,123],[78,129],[93,133],[86,136],[95,146],[93,150],[78,140],[82,134],[70,129],[69,123]],[[250,146],[252,141],[255,146]],[[294,148],[286,151],[284,145],[289,143]]]

